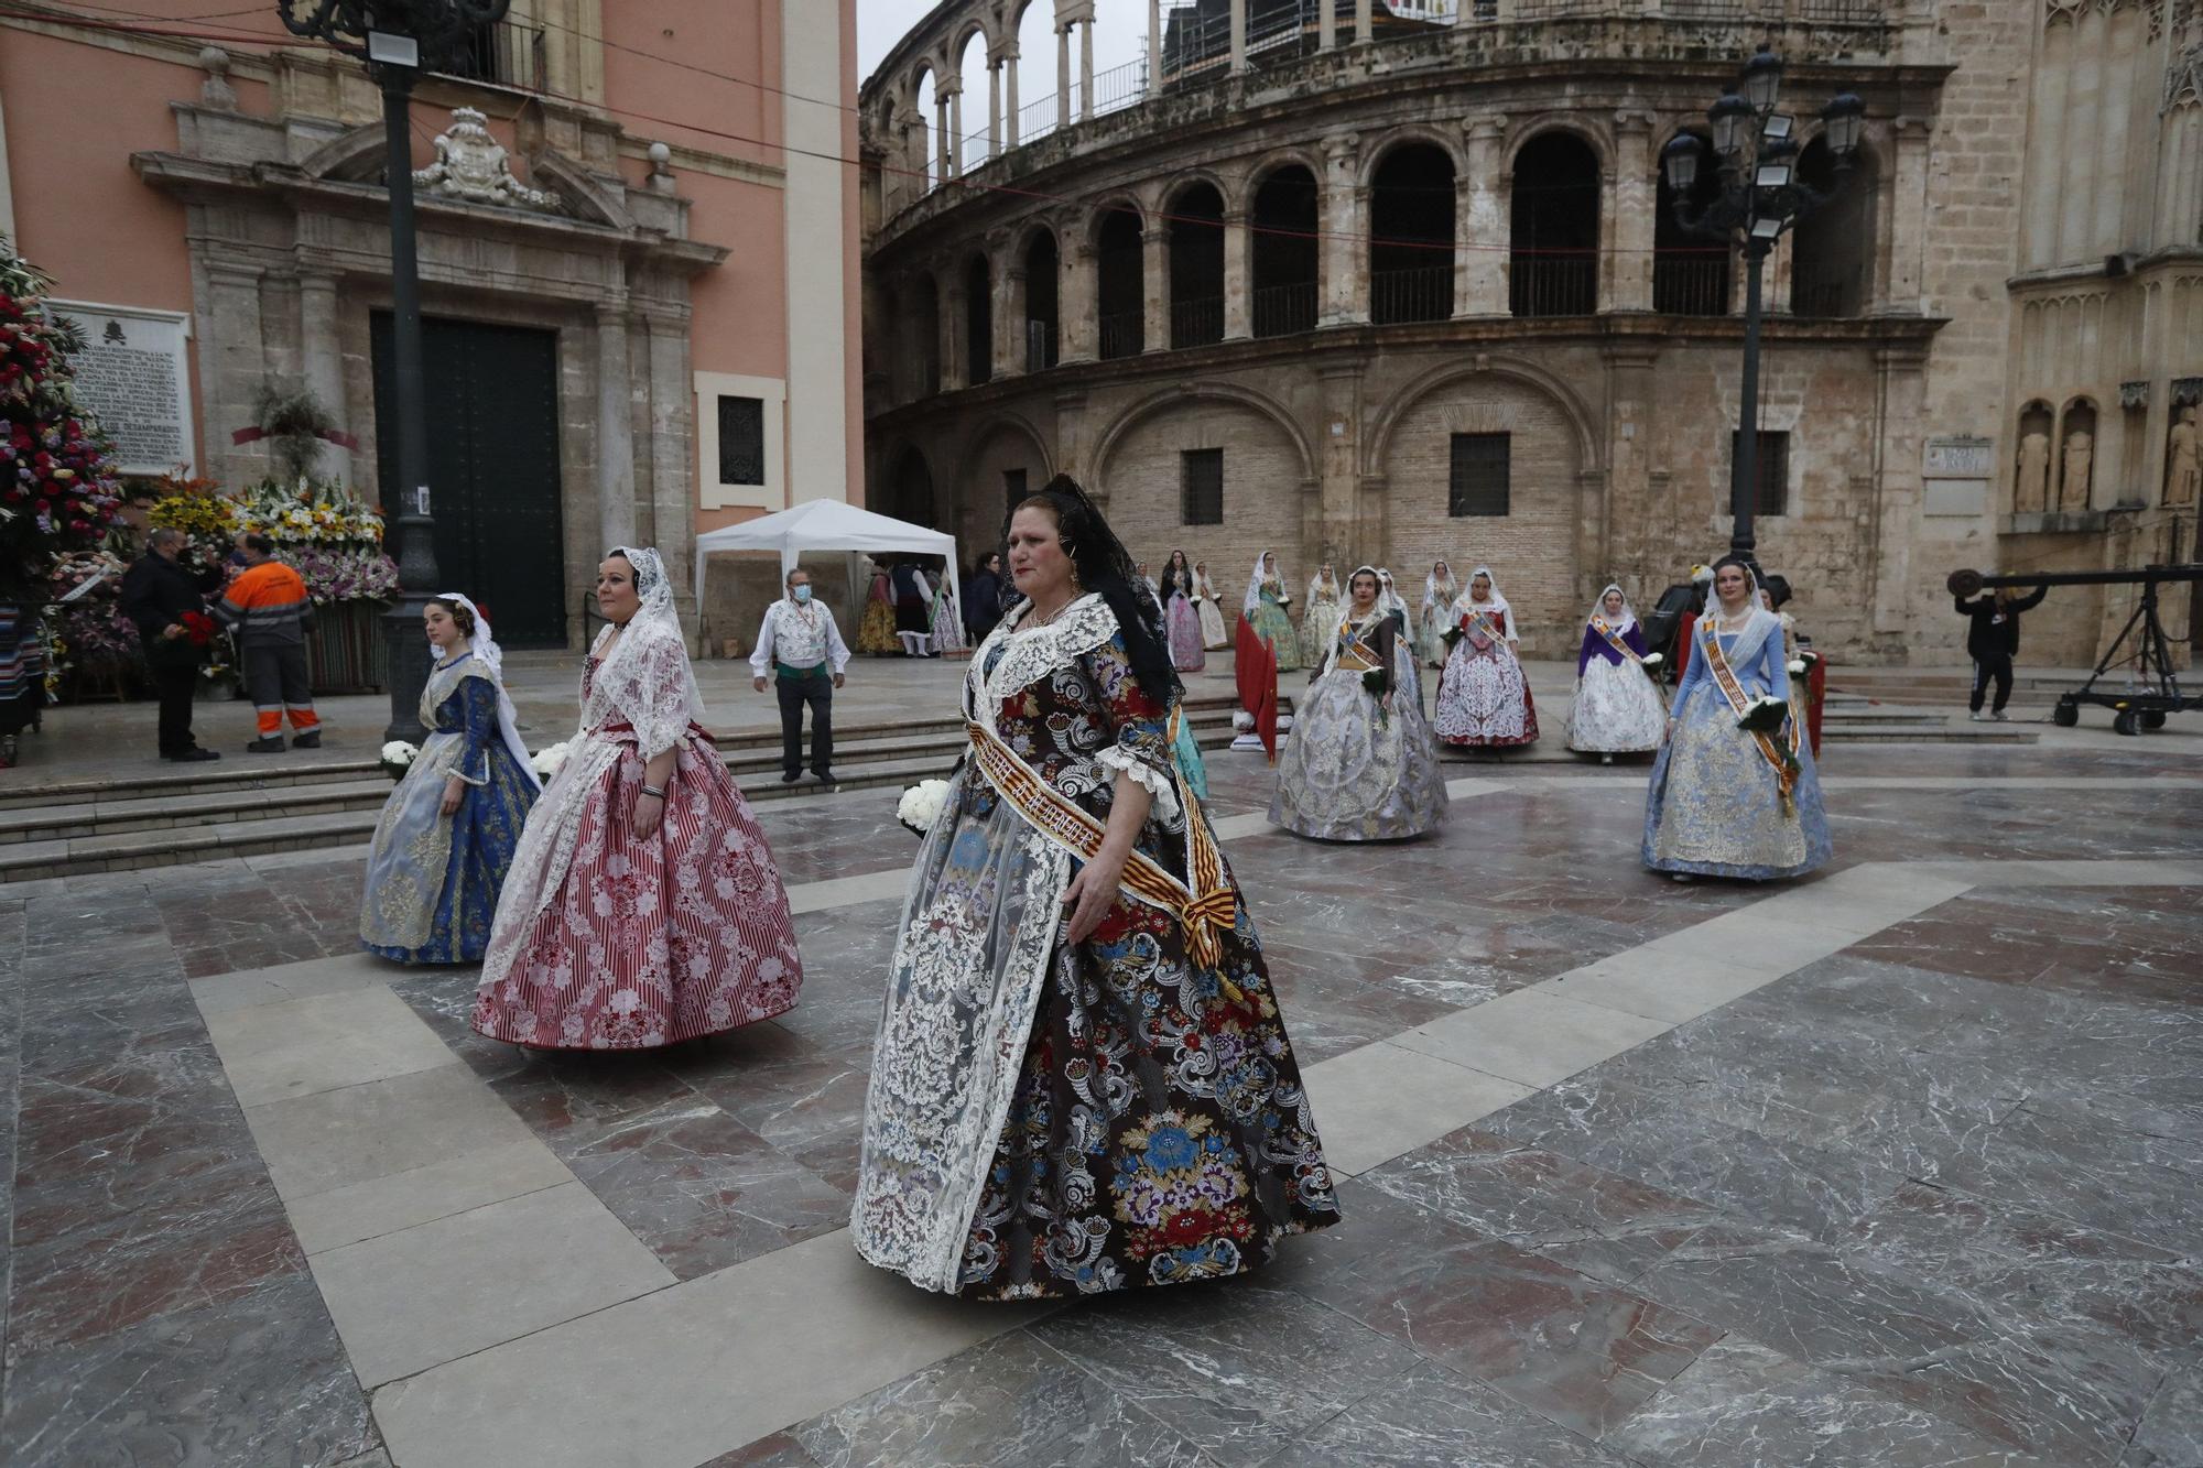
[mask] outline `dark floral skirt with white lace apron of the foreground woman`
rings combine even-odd
[[[967,767],[912,873],[850,1223],[927,1289],[1220,1278],[1339,1219],[1245,904],[1214,968],[1128,897],[1066,943],[1071,866]]]

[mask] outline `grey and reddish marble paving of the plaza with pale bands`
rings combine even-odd
[[[802,1005],[645,1056],[355,954],[359,851],[0,888],[0,1459],[2203,1464],[2203,723],[1833,749],[1784,888],[1447,769],[1337,849],[1216,756],[1346,1221],[1068,1307],[850,1250],[886,794],[764,809]]]

